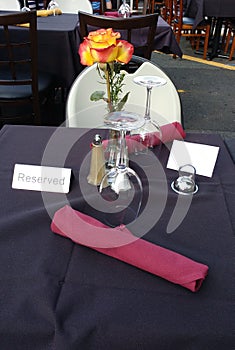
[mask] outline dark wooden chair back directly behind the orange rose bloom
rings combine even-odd
[[[79,12],[80,35],[83,39],[91,30],[96,30],[97,28],[113,28],[114,30],[121,31],[121,39],[127,40],[134,45],[135,55],[150,59],[153,51],[153,40],[156,33],[157,20],[158,14],[129,18],[111,18]],[[140,31],[141,29],[145,29],[146,32],[143,33],[142,31],[138,33],[138,30]],[[141,38],[139,38],[140,35]]]

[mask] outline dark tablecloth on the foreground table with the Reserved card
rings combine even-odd
[[[51,232],[49,213],[66,201],[100,215],[84,201],[79,186],[80,165],[95,131],[82,136],[82,130],[60,128],[53,135],[55,130],[5,126],[0,132],[1,349],[232,350],[235,170],[221,138],[187,135],[188,141],[216,145],[220,151],[213,177],[197,176],[199,191],[172,234],[166,227],[178,198],[170,189],[177,173],[166,169],[168,148],[159,154],[167,202],[144,239],[209,266],[201,289],[192,293]],[[15,163],[72,168],[70,193],[65,199],[13,190]],[[146,219],[162,206],[162,184],[153,175],[155,201]]]

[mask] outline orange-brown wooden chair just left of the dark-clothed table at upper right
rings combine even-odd
[[[178,44],[181,36],[188,37],[194,48],[199,49],[200,39],[204,38],[203,58],[207,57],[208,42],[210,36],[210,24],[205,22],[194,28],[194,18],[184,17],[183,0],[173,0],[173,31]]]

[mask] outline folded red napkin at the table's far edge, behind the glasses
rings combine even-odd
[[[186,136],[186,133],[182,127],[182,125],[179,122],[173,122],[170,124],[165,124],[161,126],[161,132],[162,132],[162,137],[161,140],[159,139],[159,134],[158,133],[151,133],[150,137],[152,138],[152,144],[153,146],[157,146],[162,143],[167,143],[173,140],[183,140]],[[140,135],[127,135],[126,137],[126,144],[128,147],[128,152],[133,153],[138,149],[138,143],[140,143]],[[103,141],[104,148],[107,146],[108,140]],[[141,140],[141,144],[139,145],[139,148],[141,148],[141,145],[145,145],[146,147],[148,142],[148,138],[146,137],[146,141]]]

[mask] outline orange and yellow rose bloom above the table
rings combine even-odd
[[[132,44],[125,40],[119,40],[119,32],[112,28],[99,29],[90,32],[79,46],[81,63],[91,66],[94,63],[120,62],[128,63],[134,52]]]

